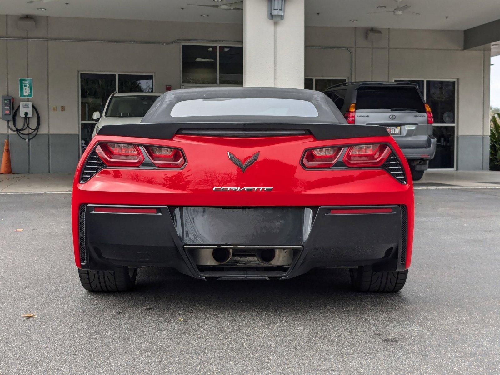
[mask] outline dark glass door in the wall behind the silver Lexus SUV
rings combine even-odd
[[[429,161],[432,169],[455,169],[456,159],[456,79],[394,79],[418,85],[434,117],[432,135],[436,153]]]

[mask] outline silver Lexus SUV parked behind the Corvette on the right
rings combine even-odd
[[[323,91],[347,120],[385,126],[408,160],[413,180],[422,178],[434,157],[432,112],[410,82],[346,82]]]

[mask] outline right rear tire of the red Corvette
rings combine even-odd
[[[365,267],[349,269],[352,286],[358,291],[390,293],[402,289],[408,270],[373,272]]]

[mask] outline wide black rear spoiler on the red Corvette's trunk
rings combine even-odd
[[[210,134],[213,130],[213,134]],[[102,126],[98,135],[171,139],[175,134],[215,136],[277,136],[312,134],[316,139],[342,139],[365,136],[386,136],[383,126],[347,125],[343,123],[136,123]]]

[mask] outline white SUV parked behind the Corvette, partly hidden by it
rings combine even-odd
[[[157,92],[112,93],[106,101],[102,115],[99,111],[92,114],[94,120],[98,119],[92,137],[105,125],[139,123],[160,95]]]

